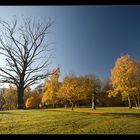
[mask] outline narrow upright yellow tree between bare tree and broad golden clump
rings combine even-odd
[[[42,92],[42,104],[45,105],[53,105],[55,106],[56,103],[56,93],[59,89],[59,75],[60,75],[60,69],[56,68],[52,71],[52,75],[50,76],[50,79],[46,79]]]

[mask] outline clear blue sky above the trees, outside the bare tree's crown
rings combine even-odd
[[[75,72],[103,80],[120,55],[140,60],[140,6],[0,6],[1,18],[13,15],[54,21],[51,67],[61,66],[61,79]]]

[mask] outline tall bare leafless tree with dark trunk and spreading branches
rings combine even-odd
[[[16,85],[18,109],[24,108],[24,90],[49,75],[51,54],[45,42],[51,25],[31,17],[0,20],[0,54],[6,60],[0,68],[1,83]]]

